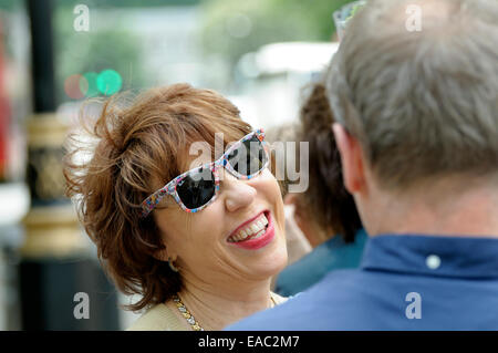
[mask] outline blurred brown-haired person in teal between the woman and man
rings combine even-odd
[[[286,297],[307,290],[332,270],[357,268],[367,239],[353,196],[342,180],[330,128],[335,121],[323,80],[313,82],[307,93],[301,124],[291,138],[308,143],[309,187],[304,193],[288,193],[283,200],[293,208],[293,212],[286,211],[287,238],[300,233],[313,250],[278,274],[274,291]]]

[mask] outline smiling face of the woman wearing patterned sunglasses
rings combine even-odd
[[[277,179],[268,168],[249,180],[239,180],[224,168],[219,173],[217,199],[199,212],[181,210],[173,198],[167,208],[155,210],[166,253],[176,258],[186,281],[215,285],[234,279],[269,279],[287,264]]]

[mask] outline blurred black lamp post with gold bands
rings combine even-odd
[[[61,158],[68,126],[55,115],[52,1],[27,0],[27,6],[33,116],[28,121],[31,207],[23,220],[25,240],[19,264],[22,329],[117,330],[116,293],[89,251],[64,197]],[[87,318],[75,314],[81,298],[89,299]]]

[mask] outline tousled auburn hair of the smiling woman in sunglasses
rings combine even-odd
[[[188,84],[152,89],[132,104],[123,101],[128,100],[105,101],[98,118],[86,126],[96,138],[86,162],[75,157],[89,145],[70,135],[64,177],[66,195],[77,200],[80,220],[104,269],[121,291],[142,295],[126,309],[141,310],[181,288],[179,274],[154,257],[165,246],[154,217],[141,218],[142,201],[185,172],[183,158],[191,143],[214,147],[215,133],[222,133],[226,146],[252,128],[228,100]]]

